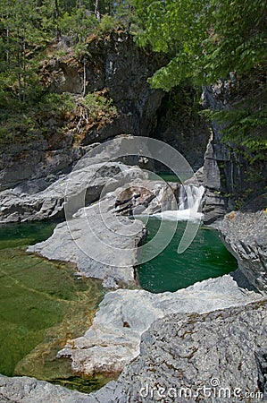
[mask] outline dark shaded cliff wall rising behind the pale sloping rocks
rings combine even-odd
[[[5,142],[0,150],[0,191],[18,184],[25,193],[43,191],[71,170],[88,144],[121,133],[167,141],[195,169],[203,164],[208,127],[197,116],[196,107],[194,116],[188,114],[196,101],[195,90],[178,88],[169,96],[152,90],[147,82],[166,63],[164,57],[140,49],[124,31],[91,36],[87,47],[85,65],[65,44],[47,50],[40,81],[48,93],[69,94],[75,108],[40,110],[38,129],[32,134],[24,133],[27,128],[17,124],[19,140]],[[83,107],[89,93],[111,103],[112,112],[100,111],[92,118]],[[175,105],[177,99],[179,106]]]

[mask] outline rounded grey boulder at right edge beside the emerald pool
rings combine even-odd
[[[266,198],[265,198],[266,200]],[[259,201],[256,202],[257,208]],[[246,279],[260,292],[267,292],[267,213],[241,210],[226,215],[220,226],[223,241],[238,259]]]

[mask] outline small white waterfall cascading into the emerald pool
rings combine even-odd
[[[182,184],[179,187],[179,210],[166,210],[153,214],[159,219],[177,220],[200,220],[202,213],[200,210],[204,186],[194,184]]]

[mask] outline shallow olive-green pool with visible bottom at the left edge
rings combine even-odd
[[[55,224],[0,226],[0,373],[27,375],[92,391],[108,380],[73,376],[71,362],[57,359],[67,339],[90,326],[103,297],[97,281],[78,278],[71,264],[25,252],[46,239]]]

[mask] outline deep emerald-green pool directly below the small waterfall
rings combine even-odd
[[[145,243],[153,239],[160,223],[159,219],[148,219]],[[170,229],[175,224],[168,222]],[[138,266],[141,287],[153,293],[176,291],[196,281],[219,277],[237,269],[236,259],[221,243],[217,231],[210,228],[200,227],[188,250],[178,254],[179,239],[185,227],[186,222],[179,221],[176,234],[167,248],[153,260]]]

